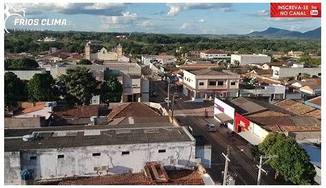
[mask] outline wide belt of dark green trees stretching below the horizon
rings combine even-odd
[[[102,41],[103,46],[112,49],[120,43],[124,52],[128,54],[159,54],[167,52],[175,54],[175,49],[182,47],[182,51],[203,49],[224,49],[239,53],[261,53],[262,49],[270,51],[305,51],[320,56],[320,40],[285,39],[285,38],[252,38],[247,36],[210,36],[185,34],[143,34],[132,33],[128,39],[118,39],[117,35],[125,33],[105,32],[51,32],[51,31],[12,31],[5,34],[5,51],[12,53],[47,51],[50,47],[57,47],[69,52],[82,53],[87,40],[94,38]],[[51,43],[39,42],[37,39],[55,37]],[[92,46],[93,50],[102,45]]]

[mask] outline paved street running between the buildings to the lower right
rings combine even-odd
[[[153,102],[161,102],[164,108],[167,108],[163,99],[166,97],[166,86],[164,82],[155,82],[153,85],[159,96],[153,99]],[[256,163],[250,157],[250,148],[248,142],[239,135],[228,137],[225,128],[219,128],[217,132],[206,132],[204,130],[207,122],[215,121],[213,117],[213,102],[187,102],[188,99],[178,92],[179,99],[175,102],[174,115],[182,126],[191,126],[194,135],[203,135],[208,142],[212,144],[212,167],[208,169],[210,176],[216,181],[222,182],[221,172],[224,171],[225,158],[221,155],[226,154],[227,146],[230,145],[231,162],[229,163],[229,172],[237,174],[236,185],[257,185],[258,169]],[[170,106],[171,107],[171,106]],[[209,119],[204,118],[204,110],[208,110]],[[217,121],[215,121],[217,124]],[[243,152],[237,152],[244,149]],[[278,182],[270,176],[262,175],[261,185],[290,185],[286,182]]]

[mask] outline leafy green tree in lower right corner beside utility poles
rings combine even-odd
[[[285,180],[299,185],[314,183],[316,171],[309,163],[309,156],[296,140],[285,134],[272,132],[259,144],[263,154],[277,155],[269,164],[276,170],[276,176],[281,174]]]

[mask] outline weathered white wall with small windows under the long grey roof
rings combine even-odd
[[[166,152],[159,153],[161,149]],[[130,153],[122,155],[126,151]],[[100,153],[100,156],[92,156],[93,153]],[[59,154],[64,157],[58,158]],[[30,159],[30,156],[36,156],[36,159]],[[10,160],[9,152],[5,158],[5,161]],[[141,172],[148,161],[157,161],[168,169],[195,166],[195,141],[27,150],[21,152],[20,158],[21,169],[33,169],[35,180],[136,173]],[[94,167],[99,170],[94,170]],[[7,162],[5,169],[5,172],[14,174],[12,171],[16,167]],[[10,182],[17,180],[12,177]]]

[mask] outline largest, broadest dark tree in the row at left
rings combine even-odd
[[[64,75],[58,78],[63,87],[63,95],[71,98],[77,104],[89,104],[95,93],[96,78],[86,67],[67,69]]]

